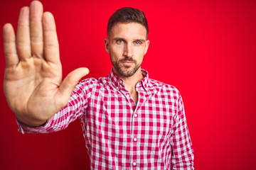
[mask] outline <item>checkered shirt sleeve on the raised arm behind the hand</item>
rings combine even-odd
[[[96,79],[85,79],[81,81],[70,96],[68,104],[55,113],[46,124],[41,127],[28,127],[16,120],[18,131],[21,133],[48,133],[57,132],[68,127],[70,123],[80,118],[88,106],[88,99],[92,94],[92,89],[95,86]],[[46,106],[47,107],[47,106]]]

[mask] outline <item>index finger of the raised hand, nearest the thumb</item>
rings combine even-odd
[[[50,12],[43,13],[43,50],[47,62],[60,63],[55,21]]]

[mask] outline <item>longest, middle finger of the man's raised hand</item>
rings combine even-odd
[[[43,5],[40,1],[32,1],[30,6],[30,36],[33,57],[43,57]]]

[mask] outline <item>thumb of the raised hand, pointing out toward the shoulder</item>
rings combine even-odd
[[[75,86],[78,84],[78,81],[88,73],[89,69],[85,67],[75,69],[73,72],[70,72],[60,85],[61,96],[69,98],[73,89],[75,89]]]

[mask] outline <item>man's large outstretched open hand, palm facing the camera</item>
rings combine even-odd
[[[87,68],[75,69],[62,82],[58,38],[53,15],[32,1],[21,8],[17,35],[4,26],[4,93],[16,118],[31,126],[42,125],[63,108]]]

